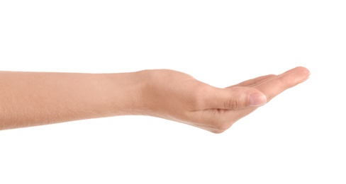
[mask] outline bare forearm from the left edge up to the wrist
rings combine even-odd
[[[0,130],[136,114],[138,72],[78,74],[0,72]]]

